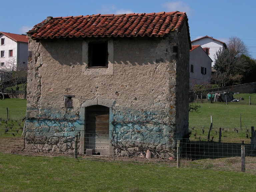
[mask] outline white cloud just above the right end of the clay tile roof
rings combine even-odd
[[[181,11],[186,12],[189,16],[191,16],[193,13],[193,9],[191,9],[187,4],[183,3],[182,1],[163,3],[162,7],[166,9],[165,12]]]

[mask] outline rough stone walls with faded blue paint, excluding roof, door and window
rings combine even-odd
[[[108,42],[108,68],[88,67],[88,42]],[[173,53],[178,46],[178,53]],[[29,39],[27,144],[41,151],[84,150],[85,103],[110,107],[110,154],[124,148],[172,151],[188,131],[187,29],[166,38]],[[179,77],[177,77],[179,75]],[[65,108],[64,95],[74,95]],[[40,151],[39,150],[39,151]]]

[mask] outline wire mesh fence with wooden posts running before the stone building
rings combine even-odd
[[[221,142],[207,140],[179,140],[172,150],[114,146],[106,135],[85,134],[84,147],[81,149],[80,138],[58,138],[55,141],[40,142],[25,140],[21,135],[13,136],[0,129],[0,152],[43,156],[63,156],[69,158],[91,158],[135,163],[161,163],[168,166],[189,168],[241,171],[242,146],[244,146],[245,171],[256,173],[256,142],[241,143],[234,140]],[[80,141],[79,141],[80,140]]]

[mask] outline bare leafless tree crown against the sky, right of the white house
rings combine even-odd
[[[236,56],[241,56],[242,54],[250,56],[247,45],[245,45],[245,43],[239,37],[230,37],[227,43],[227,47],[229,50],[234,51]]]

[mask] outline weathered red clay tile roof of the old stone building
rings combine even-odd
[[[87,15],[69,17],[47,17],[27,32],[32,39],[71,37],[163,37],[170,31],[180,31],[186,24],[185,12],[161,12],[149,14]]]

